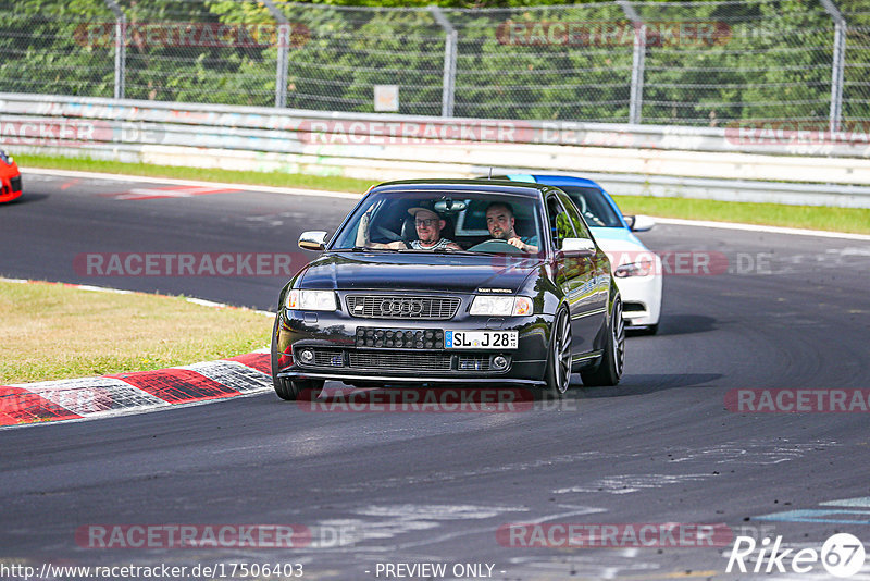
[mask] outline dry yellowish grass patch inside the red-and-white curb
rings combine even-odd
[[[38,313],[35,316],[34,313]],[[182,297],[0,281],[0,385],[148,371],[243,355],[272,321]]]

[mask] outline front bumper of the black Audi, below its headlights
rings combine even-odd
[[[278,312],[277,375],[291,380],[318,379],[373,383],[522,383],[544,382],[552,316],[471,317],[457,314],[442,321],[353,318],[343,311],[311,312],[282,309]],[[446,330],[517,331],[515,349],[447,349]],[[431,333],[431,347],[359,346],[359,333],[401,331],[405,336]],[[437,343],[437,333],[442,342]],[[419,344],[418,344],[419,345]],[[303,362],[302,350],[314,354]],[[496,357],[508,364],[497,369]]]

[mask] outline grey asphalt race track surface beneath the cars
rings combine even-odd
[[[123,199],[161,186],[26,173],[25,184],[20,203],[0,208],[0,274],[261,309],[274,308],[283,277],[86,276],[74,261],[297,252],[301,231],[333,230],[353,205],[244,190]],[[513,413],[310,412],[265,394],[0,431],[0,563],[300,563],[303,579],[349,580],[385,579],[377,564],[398,563],[446,564],[448,579],[455,564],[493,565],[492,579],[760,579],[771,576],[725,573],[729,546],[504,546],[496,533],[517,522],[724,523],[791,547],[818,549],[834,532],[869,542],[868,413],[735,413],[724,398],[870,387],[870,244],[668,225],[643,238],[721,252],[731,272],[666,277],[659,335],[629,337],[619,387],[575,376],[564,400]],[[848,498],[855,510],[813,512]],[[787,510],[810,517],[761,519]],[[324,542],[77,544],[76,530],[95,523],[295,523]],[[339,529],[344,543],[330,536]],[[818,564],[791,577],[829,578]]]

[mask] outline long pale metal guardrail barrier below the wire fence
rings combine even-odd
[[[0,144],[374,181],[573,173],[613,194],[870,208],[870,136],[442,119],[0,94]]]

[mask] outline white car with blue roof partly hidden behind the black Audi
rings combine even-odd
[[[574,200],[595,242],[610,258],[626,324],[655,334],[661,318],[661,259],[634,235],[651,228],[652,219],[622,215],[613,198],[592,180],[531,174],[512,174],[508,178],[556,186]]]

